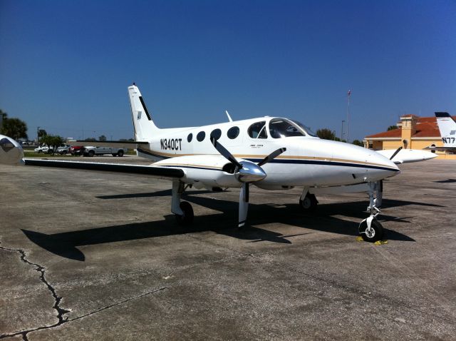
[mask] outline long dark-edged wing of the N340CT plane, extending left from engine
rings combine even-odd
[[[155,166],[138,166],[125,165],[119,163],[95,163],[95,162],[77,162],[77,161],[54,161],[54,160],[35,160],[24,159],[26,166],[52,167],[52,168],[67,168],[79,170],[102,170],[113,173],[130,173],[150,175],[154,178],[182,178],[185,175],[181,168],[165,168]]]

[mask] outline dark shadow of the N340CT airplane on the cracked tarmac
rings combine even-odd
[[[158,196],[165,195],[162,191]],[[202,194],[205,191],[195,193]],[[207,192],[212,193],[212,192]],[[138,197],[143,198],[145,194],[138,193]],[[152,194],[152,193],[151,193]],[[197,233],[202,231],[212,231],[221,235],[227,235],[239,240],[247,240],[249,243],[269,241],[272,243],[291,244],[286,238],[297,235],[306,235],[314,232],[299,233],[295,235],[283,235],[274,231],[257,228],[252,225],[246,225],[244,228],[237,229],[233,226],[237,223],[238,203],[229,200],[217,200],[204,198],[198,195],[189,195],[187,193],[185,200],[197,205],[202,205],[213,210],[219,210],[222,213],[203,215],[195,217],[194,227],[182,228],[175,222],[174,215],[165,215],[164,220],[151,221],[145,223],[128,223],[124,225],[106,226],[103,228],[91,228],[87,230],[68,231],[65,233],[55,233],[48,235],[31,230],[22,230],[26,237],[41,248],[61,257],[71,260],[86,260],[85,255],[78,250],[78,246],[96,245],[102,243],[114,243],[125,240],[139,240],[145,238],[157,238],[168,235],[181,235],[185,233]],[[152,196],[152,195],[150,195]],[[105,195],[103,198],[133,198],[133,195]],[[383,200],[385,207],[395,207],[401,205],[426,205],[439,206],[427,203],[413,203],[402,200]],[[343,213],[345,216],[363,219],[368,214],[363,213],[366,209],[366,201],[351,203],[331,203],[322,204],[314,214],[302,213],[298,204],[254,204],[249,205],[249,221],[255,225],[264,225],[268,223],[283,223],[294,225],[299,228],[306,228],[314,231],[337,233],[342,235],[358,235],[358,223],[336,218],[331,215]],[[394,218],[388,215],[380,215],[383,221],[395,221],[400,223],[409,223],[406,218]],[[398,233],[393,230],[385,229],[389,240],[415,241],[407,235]]]

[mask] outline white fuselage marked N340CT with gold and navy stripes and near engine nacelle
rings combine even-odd
[[[236,180],[228,180],[230,174],[223,171],[227,160],[212,146],[210,136],[218,138],[217,141],[239,160],[254,163],[278,148],[286,148],[284,153],[263,166],[267,177],[254,184],[264,189],[350,185],[399,173],[393,162],[375,151],[322,140],[298,125],[290,135],[301,136],[277,135],[274,126],[279,125],[280,120],[291,122],[286,118],[261,117],[201,127],[160,129],[150,138],[149,148],[138,148],[138,155],[159,161],[155,166],[184,168],[188,178],[198,178],[197,171],[204,169],[204,176],[199,181],[206,181],[206,187],[240,185]],[[261,126],[263,131],[255,131],[255,127]],[[204,158],[200,157],[202,155]]]

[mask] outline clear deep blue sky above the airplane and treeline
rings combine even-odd
[[[0,0],[0,108],[64,137],[294,118],[350,139],[456,113],[456,2]]]

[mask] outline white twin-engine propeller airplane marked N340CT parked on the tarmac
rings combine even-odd
[[[249,206],[249,185],[264,190],[303,188],[299,203],[313,208],[318,193],[367,191],[370,216],[359,232],[364,240],[383,238],[375,219],[382,196],[382,180],[398,175],[398,151],[387,158],[348,143],[321,140],[301,123],[280,117],[261,117],[191,128],[155,126],[137,86],[128,88],[138,156],[154,161],[150,166],[25,159],[19,143],[0,136],[0,163],[139,173],[172,180],[171,211],[182,225],[192,223],[190,203],[181,201],[188,187],[221,190],[241,188],[239,221],[242,227]],[[125,146],[125,142],[96,142],[97,146]],[[425,153],[425,154],[423,154]],[[430,152],[411,161],[435,157]],[[397,163],[405,162],[403,160]],[[410,160],[408,161],[410,162]],[[374,195],[376,198],[374,198]]]

